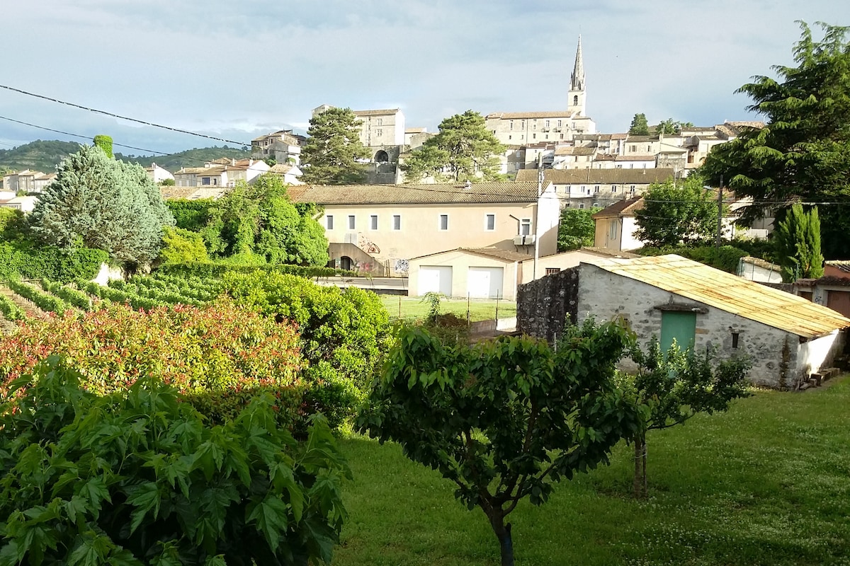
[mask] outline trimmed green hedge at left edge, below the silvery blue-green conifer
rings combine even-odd
[[[4,242],[0,244],[0,280],[47,278],[68,283],[91,279],[98,274],[100,264],[108,259],[109,255],[102,249],[81,248],[66,252],[54,246]]]

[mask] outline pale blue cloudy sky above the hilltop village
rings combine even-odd
[[[638,112],[650,124],[673,118],[711,126],[758,119],[734,91],[751,76],[774,76],[774,64],[794,64],[795,20],[850,25],[847,0],[0,5],[0,149],[107,134],[116,151],[137,155],[224,142],[6,87],[230,146],[280,129],[304,132],[320,104],[400,108],[407,127],[435,132],[440,120],[467,109],[565,109],[581,34],[587,115],[598,132],[626,132]]]

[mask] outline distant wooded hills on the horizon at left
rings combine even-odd
[[[56,171],[56,165],[70,154],[80,149],[77,142],[59,142],[57,140],[25,143],[13,149],[0,149],[0,169],[8,168],[12,171],[31,169],[52,173]],[[143,167],[150,167],[156,163],[168,171],[178,171],[180,167],[200,167],[205,161],[217,160],[222,157],[242,160],[251,157],[251,152],[243,149],[230,148],[228,146],[187,149],[176,154],[136,156],[116,153],[116,159],[130,163],[138,163]]]

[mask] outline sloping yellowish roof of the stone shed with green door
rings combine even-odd
[[[850,318],[830,308],[680,255],[587,263],[805,339],[850,327]]]

